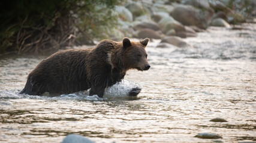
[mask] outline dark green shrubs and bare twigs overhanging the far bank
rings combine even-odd
[[[0,2],[0,54],[40,52],[103,38],[118,0]]]

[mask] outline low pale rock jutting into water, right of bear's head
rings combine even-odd
[[[185,48],[185,47],[192,47],[185,41],[183,41],[181,38],[177,36],[167,36],[164,39],[162,39],[161,43],[170,43],[174,46],[180,47],[180,48]]]

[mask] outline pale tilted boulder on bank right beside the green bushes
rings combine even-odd
[[[132,21],[132,13],[125,7],[122,6],[115,6],[115,11],[118,13],[118,17],[121,18],[123,21]]]

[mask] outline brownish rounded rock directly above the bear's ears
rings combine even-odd
[[[153,39],[161,39],[161,35],[152,29],[141,29],[137,33],[138,38],[153,38]]]

